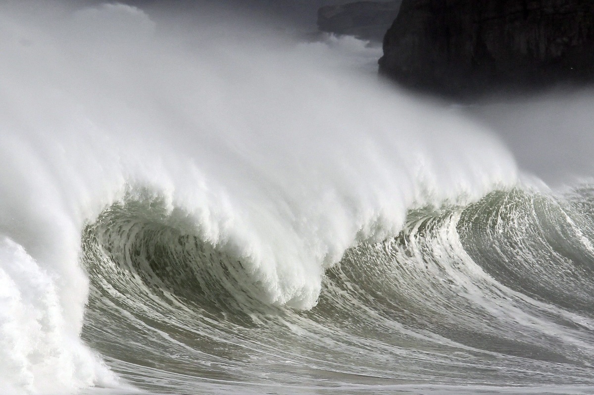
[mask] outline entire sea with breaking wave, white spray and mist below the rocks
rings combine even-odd
[[[591,96],[217,15],[0,5],[0,393],[594,393]]]

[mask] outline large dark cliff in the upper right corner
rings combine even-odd
[[[592,0],[403,0],[380,74],[454,96],[594,78]]]

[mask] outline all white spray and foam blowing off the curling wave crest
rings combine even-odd
[[[230,304],[310,309],[324,272],[349,248],[397,235],[409,210],[516,183],[513,159],[485,131],[331,56],[337,43],[366,53],[356,40],[298,44],[112,4],[7,2],[0,26],[9,393],[114,385],[78,339],[89,291],[81,235],[115,255],[164,240],[179,249],[150,256],[216,255],[210,280],[191,265],[129,266],[169,273],[159,281],[190,300],[217,289]],[[97,267],[91,282],[107,270],[89,273]]]

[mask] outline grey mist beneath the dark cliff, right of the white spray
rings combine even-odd
[[[501,137],[525,172],[567,187],[594,174],[593,98],[591,89],[558,89],[467,110]]]

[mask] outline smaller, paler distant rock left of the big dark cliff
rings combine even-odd
[[[358,1],[318,10],[318,29],[381,42],[398,14],[397,1]]]

